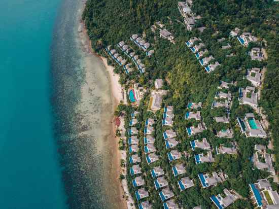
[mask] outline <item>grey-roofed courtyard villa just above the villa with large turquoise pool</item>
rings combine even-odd
[[[255,90],[255,87],[252,86],[247,86],[246,89],[239,88],[239,104],[249,105],[256,110],[258,108],[258,100]]]

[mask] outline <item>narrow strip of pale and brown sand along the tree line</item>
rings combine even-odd
[[[106,68],[106,73],[108,74],[109,81],[110,81],[110,92],[111,92],[111,97],[112,97],[112,101],[113,101],[113,111],[115,111],[117,106],[119,105],[119,103],[124,100],[123,88],[118,82],[120,79],[120,76],[118,74],[114,73],[113,66],[108,65],[107,58],[101,57],[93,52],[92,47],[91,47],[91,41],[88,36],[84,21],[80,20],[79,24],[80,24],[81,28],[79,28],[78,32],[83,33],[83,35],[86,38],[86,42],[82,43],[84,45],[84,48],[86,49],[85,53],[88,53],[90,55],[93,55],[93,56],[99,58],[103,64],[104,68]],[[115,178],[115,182],[118,184],[117,187],[119,190],[118,197],[116,197],[116,198],[120,200],[119,204],[121,205],[121,208],[128,208],[128,201],[126,201],[126,198],[125,198],[127,196],[125,190],[127,191],[127,189],[126,188],[124,189],[125,186],[123,185],[123,182],[119,180],[120,175],[123,173],[122,167],[120,165],[121,159],[122,159],[122,153],[118,149],[118,142],[120,140],[120,137],[116,136],[117,126],[115,124],[114,115],[110,119],[110,124],[111,124],[111,130],[110,130],[111,138],[109,138],[109,140],[112,141],[112,144],[114,145],[114,146],[112,146],[112,149],[110,150],[110,152],[113,156],[112,163],[114,165],[113,166],[114,168],[112,168],[112,169],[116,168],[116,170],[113,170],[113,171],[117,173],[117,175],[115,175],[114,178]],[[124,173],[124,175],[125,175],[125,173]]]

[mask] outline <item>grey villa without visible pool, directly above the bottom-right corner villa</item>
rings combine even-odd
[[[266,148],[263,145],[255,145],[256,152],[252,157],[254,166],[260,170],[268,170],[272,175],[275,175],[275,170],[272,165],[270,154],[266,153]]]

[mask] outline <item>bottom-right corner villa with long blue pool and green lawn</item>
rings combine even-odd
[[[252,201],[261,209],[279,208],[279,195],[273,191],[267,179],[258,180],[255,184],[250,184],[250,194]]]

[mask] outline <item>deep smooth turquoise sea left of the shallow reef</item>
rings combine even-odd
[[[50,46],[60,0],[0,1],[0,207],[68,208],[54,140]]]

